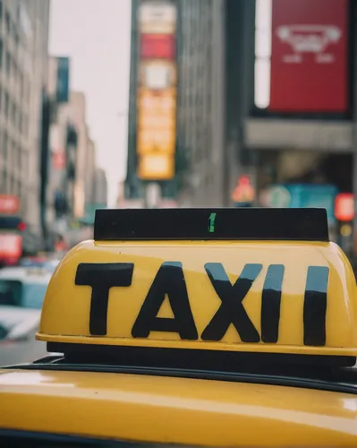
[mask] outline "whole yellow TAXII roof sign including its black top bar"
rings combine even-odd
[[[355,280],[327,241],[326,211],[98,213],[96,240],[72,249],[49,283],[38,340],[356,357]],[[279,216],[281,241],[269,228]],[[164,237],[159,221],[145,230],[155,217],[166,217]]]

